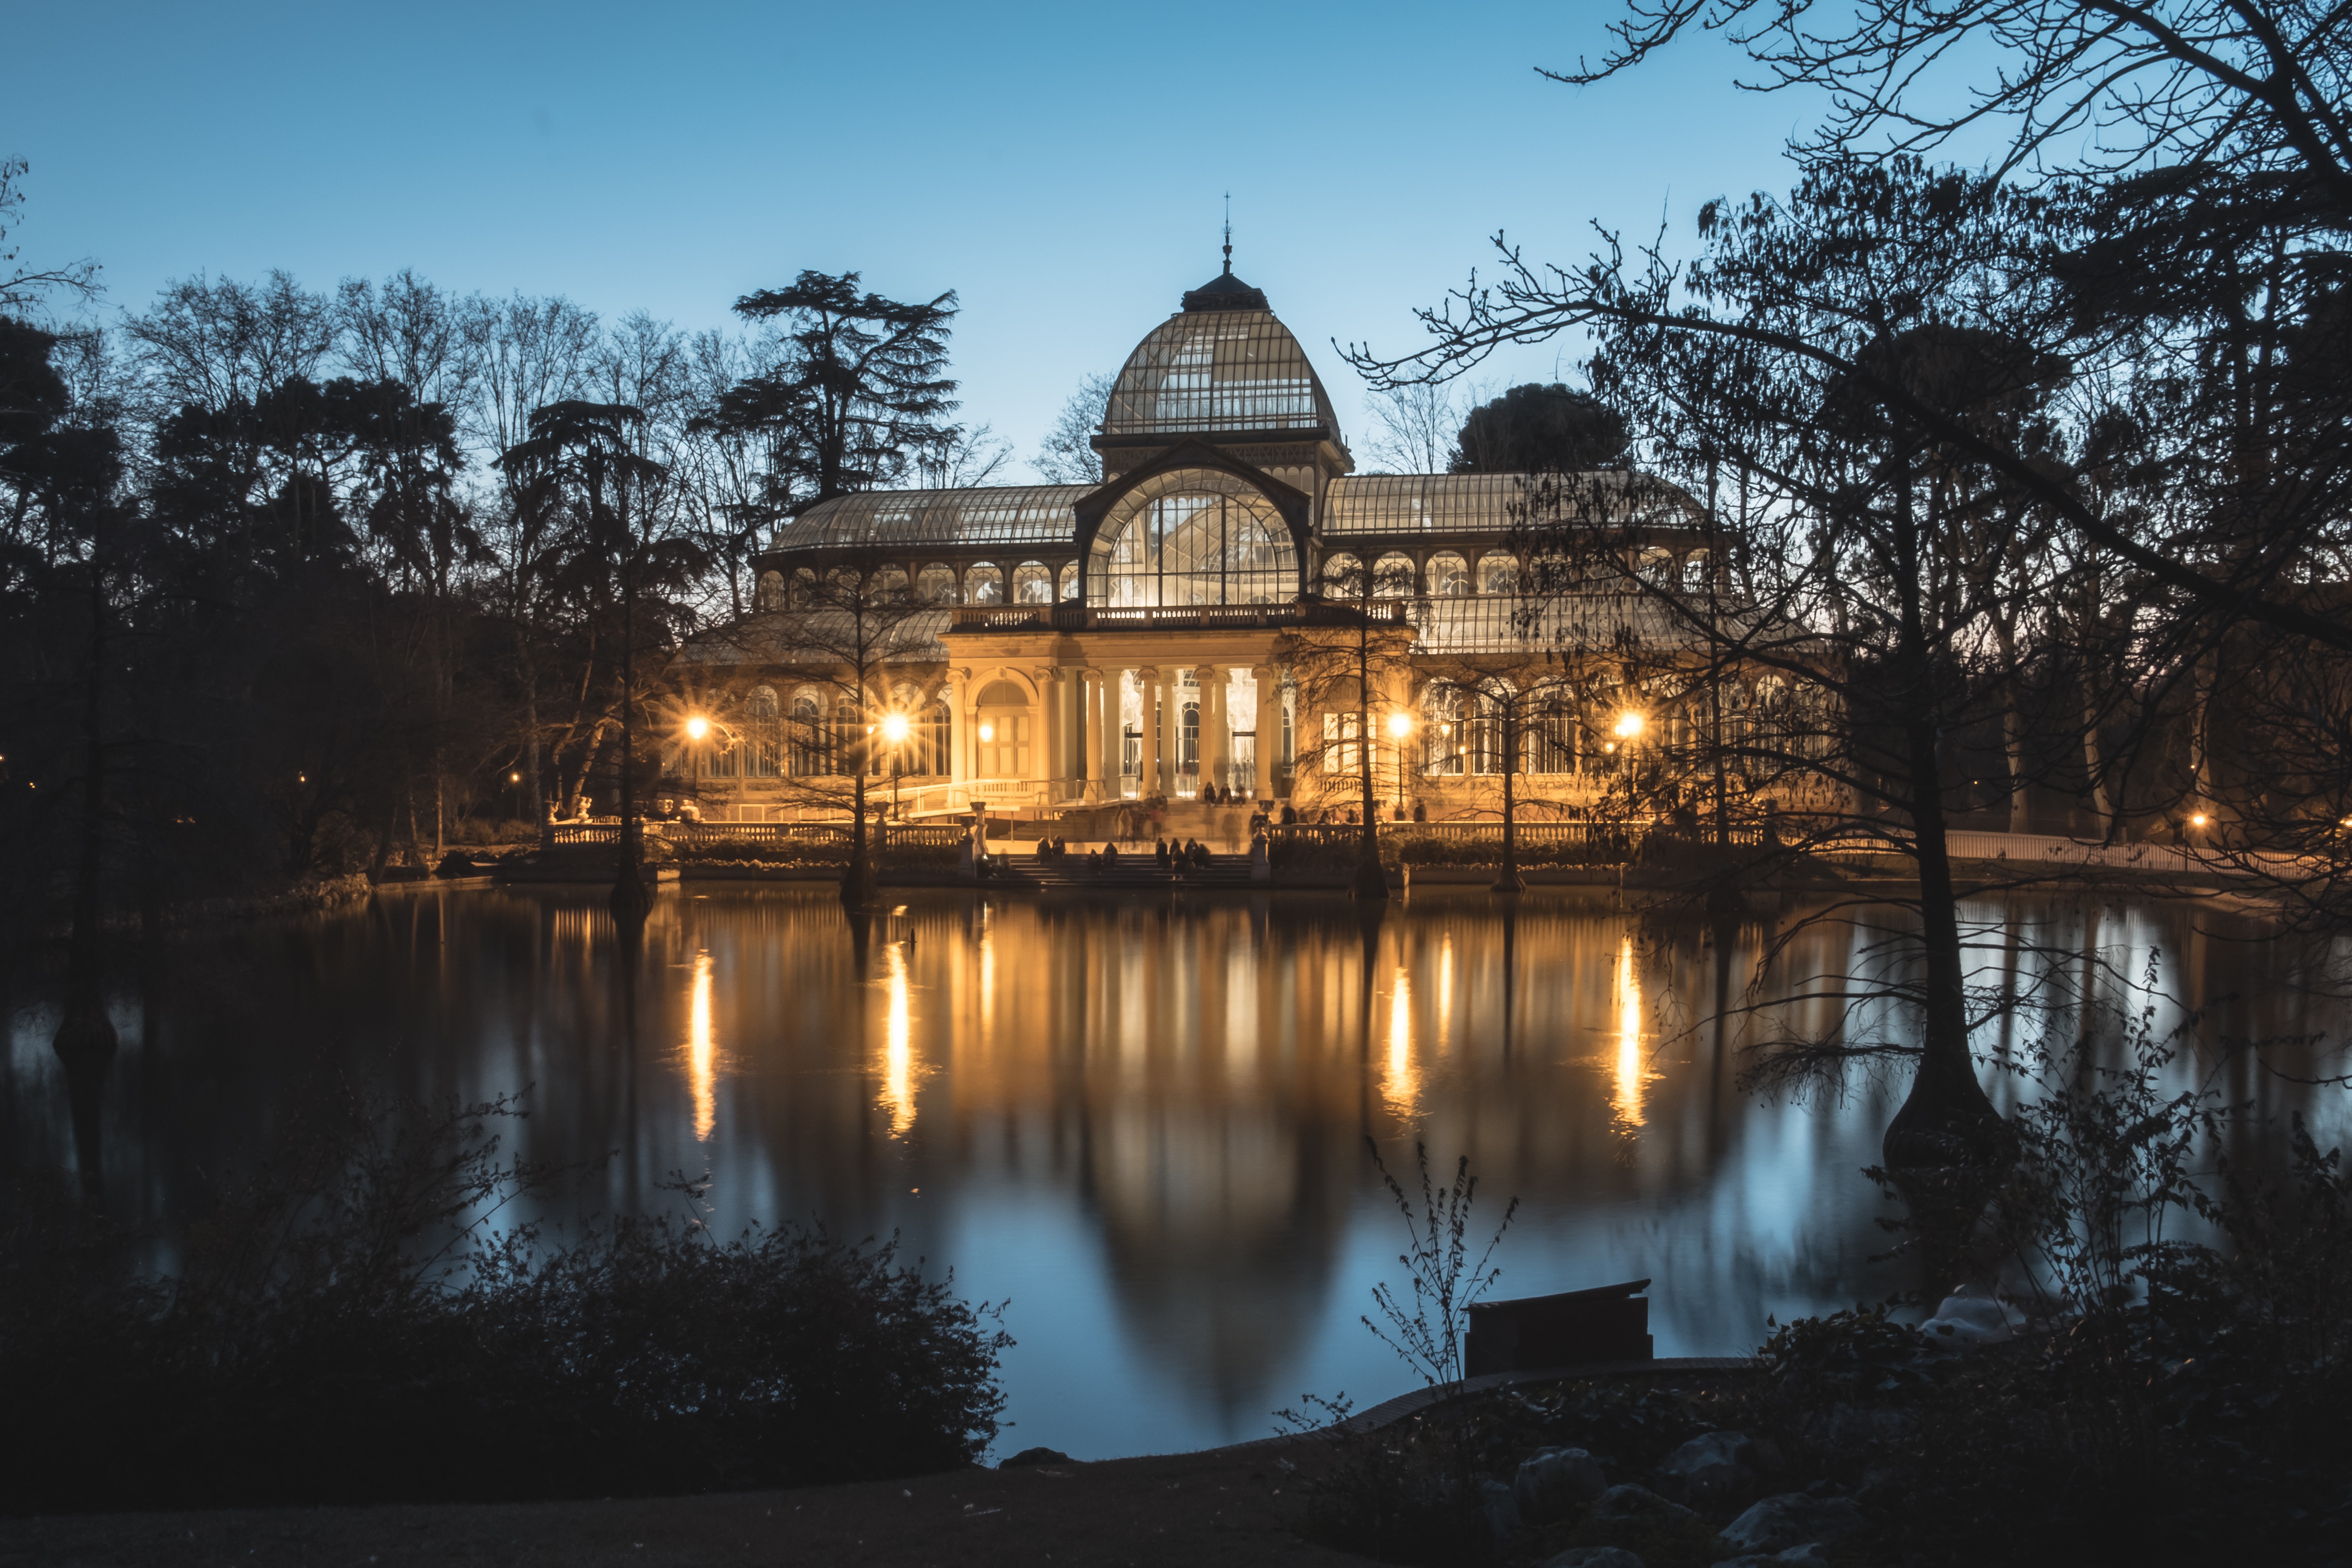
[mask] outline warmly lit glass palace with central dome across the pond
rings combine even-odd
[[[1357,475],[1298,339],[1230,266],[1129,355],[1094,449],[1094,487],[866,491],[779,527],[757,562],[755,625],[689,651],[736,715],[727,745],[684,759],[706,813],[802,816],[809,790],[795,783],[849,769],[896,773],[913,811],[1211,785],[1357,799],[1357,698],[1308,679],[1303,658],[1369,616],[1383,651],[1369,701],[1378,799],[1446,816],[1501,780],[1498,679],[1564,679],[1578,649],[1599,656],[1630,623],[1653,639],[1663,625],[1623,581],[1519,592],[1524,475]],[[1628,571],[1708,583],[1686,496],[1632,475],[1578,475],[1576,489],[1585,505],[1623,503],[1616,522],[1639,541]],[[837,581],[915,607],[896,616],[903,644],[866,701],[840,679],[840,639],[793,632]],[[1519,731],[1524,795],[1597,792],[1616,715],[1590,712],[1590,682],[1581,691]],[[877,710],[906,717],[889,757],[863,741]]]

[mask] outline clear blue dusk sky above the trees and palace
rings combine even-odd
[[[1075,381],[1218,266],[1315,355],[1402,350],[1503,228],[1686,240],[1780,188],[1813,103],[1733,87],[1698,38],[1590,89],[1534,66],[1611,5],[16,7],[0,153],[33,162],[24,261],[310,287],[414,266],[680,327],[800,268],[957,289],[964,418],[1028,454]],[[1576,348],[1482,371],[1550,378]]]

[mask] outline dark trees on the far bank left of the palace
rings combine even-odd
[[[19,917],[61,910],[85,804],[115,907],[607,809],[623,665],[659,719],[647,675],[750,607],[764,529],[1007,456],[950,423],[955,296],[854,273],[699,334],[414,273],[195,277],[122,313],[89,277],[0,287],[0,842],[42,889]]]

